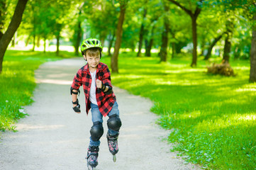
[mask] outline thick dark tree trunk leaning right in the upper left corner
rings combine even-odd
[[[18,0],[17,6],[15,8],[15,11],[13,13],[13,17],[11,18],[11,23],[9,24],[8,29],[6,30],[6,33],[1,37],[0,40],[0,74],[3,69],[3,61],[4,61],[4,54],[6,52],[6,49],[11,42],[11,38],[13,38],[14,33],[18,29],[18,26],[21,24],[21,19],[23,12],[26,8],[28,0]]]

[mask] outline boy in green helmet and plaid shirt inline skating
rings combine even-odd
[[[104,117],[108,115],[106,137],[114,162],[116,162],[116,153],[118,152],[117,139],[122,123],[119,118],[116,96],[112,90],[109,69],[106,64],[100,62],[101,42],[95,38],[88,38],[82,42],[81,52],[87,64],[79,69],[74,77],[70,94],[72,95],[73,110],[76,113],[81,113],[77,94],[80,93],[79,86],[83,86],[87,115],[91,108],[93,126],[90,130],[91,137],[86,159],[87,166],[93,169],[98,165],[99,140],[104,133],[102,126],[103,115]]]

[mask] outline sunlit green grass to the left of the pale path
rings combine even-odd
[[[0,74],[0,130],[15,130],[16,120],[25,117],[23,106],[33,102],[35,89],[34,71],[40,64],[69,57],[61,52],[56,57],[52,52],[29,52],[7,50]]]

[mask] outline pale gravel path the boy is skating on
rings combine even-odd
[[[91,115],[86,115],[84,94],[80,94],[82,114],[72,111],[69,87],[83,60],[69,59],[42,64],[35,72],[38,86],[32,106],[26,106],[27,118],[19,121],[18,132],[4,132],[0,140],[0,169],[53,170],[87,169],[84,159],[89,145]],[[99,166],[96,169],[196,169],[184,164],[170,145],[162,142],[168,135],[155,125],[157,115],[150,113],[152,103],[113,88],[117,96],[123,126],[119,136],[117,161],[106,144],[106,118],[101,137]]]

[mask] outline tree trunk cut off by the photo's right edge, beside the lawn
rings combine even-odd
[[[256,14],[253,16],[256,22]],[[255,24],[254,22],[254,24]],[[256,26],[252,26],[252,46],[250,51],[250,82],[256,82]]]

